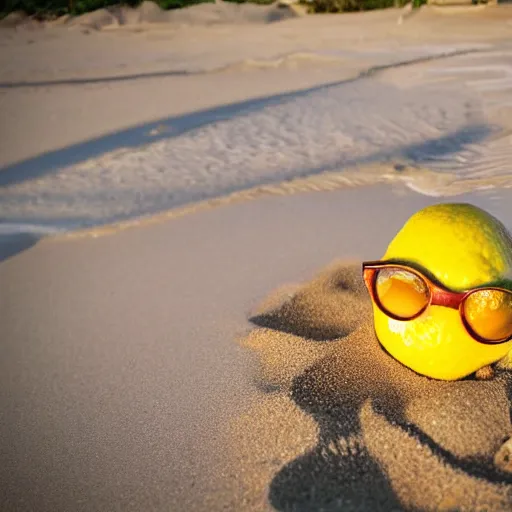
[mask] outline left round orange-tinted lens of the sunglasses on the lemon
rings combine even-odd
[[[384,313],[402,320],[421,313],[430,300],[429,289],[423,279],[398,267],[377,271],[375,294]]]

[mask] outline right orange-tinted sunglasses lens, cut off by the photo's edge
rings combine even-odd
[[[480,338],[504,341],[512,336],[512,292],[476,291],[464,301],[464,315]]]

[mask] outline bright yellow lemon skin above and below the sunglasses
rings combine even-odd
[[[495,217],[470,204],[443,203],[420,210],[382,259],[410,263],[453,291],[490,285],[512,289],[512,237]],[[384,348],[402,364],[432,378],[465,377],[512,349],[512,341],[476,341],[455,309],[429,306],[409,321],[391,319],[376,305],[373,309],[375,331]]]

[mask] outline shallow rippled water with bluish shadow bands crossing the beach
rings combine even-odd
[[[297,178],[321,188],[326,172],[331,187],[339,174],[339,186],[396,180],[434,196],[512,186],[512,46],[378,53],[380,64],[353,79],[181,116],[148,130],[142,144],[131,144],[128,130],[88,143],[106,148],[94,157],[86,144],[4,168],[0,232],[101,225]],[[231,81],[304,58],[336,65],[347,55],[204,72]]]

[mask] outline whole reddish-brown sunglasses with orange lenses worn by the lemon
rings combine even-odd
[[[429,306],[444,306],[459,310],[476,341],[512,340],[511,290],[490,286],[457,293],[408,265],[382,261],[363,263],[363,277],[373,302],[394,320],[414,320]]]

